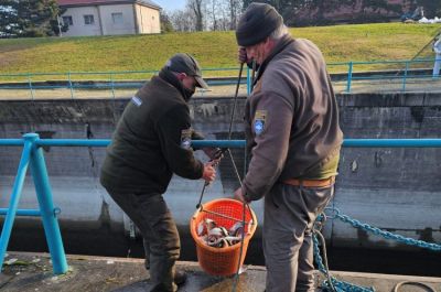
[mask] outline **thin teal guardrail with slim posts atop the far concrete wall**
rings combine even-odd
[[[345,91],[351,93],[354,83],[362,82],[395,82],[397,90],[407,91],[409,80],[433,79],[434,58],[407,61],[372,61],[372,62],[341,62],[329,63],[334,84],[345,83]],[[441,62],[441,60],[437,60]],[[429,64],[429,66],[428,66]],[[363,71],[368,67],[370,71]],[[390,68],[394,68],[392,71]],[[373,68],[378,68],[372,72]],[[209,86],[235,85],[238,67],[205,68],[204,77]],[[340,72],[340,73],[338,73]],[[67,89],[71,98],[75,98],[75,90],[110,90],[116,97],[117,90],[136,89],[142,86],[158,71],[126,71],[126,72],[66,72],[66,73],[23,73],[0,74],[0,89],[26,89],[29,97],[35,98],[36,90]],[[233,77],[232,77],[233,76]],[[336,76],[334,78],[334,76]],[[335,80],[337,79],[337,80]],[[247,86],[247,94],[251,91],[251,72],[246,69],[246,77],[241,84]],[[202,95],[204,90],[200,90]]]

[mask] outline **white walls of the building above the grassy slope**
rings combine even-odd
[[[150,0],[57,0],[66,9],[66,36],[160,33],[160,10]]]

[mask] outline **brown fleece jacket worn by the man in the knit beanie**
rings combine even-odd
[[[336,174],[343,133],[320,50],[308,40],[282,37],[260,65],[245,110],[252,158],[244,181],[250,199],[277,181]]]

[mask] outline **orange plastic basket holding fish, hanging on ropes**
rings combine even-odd
[[[190,231],[196,242],[197,260],[204,271],[213,275],[232,275],[237,271],[237,263],[240,256],[240,242],[230,247],[215,248],[207,246],[197,236],[197,226],[205,218],[213,219],[219,226],[229,229],[237,221],[243,221],[243,203],[230,199],[219,198],[205,203],[202,208],[196,210],[190,220]],[[240,266],[244,263],[247,255],[248,242],[257,228],[256,215],[251,208],[246,208],[245,223],[250,225],[249,232],[244,238],[244,249],[240,259]]]

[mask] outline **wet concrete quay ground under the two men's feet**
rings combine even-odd
[[[63,275],[52,273],[47,253],[10,252],[0,274],[0,290],[9,292],[71,292],[112,291],[141,292],[151,288],[149,272],[140,259],[68,256],[69,271]],[[178,268],[187,272],[187,281],[180,288],[182,292],[232,291],[234,277],[213,277],[201,270],[196,262],[179,262]],[[441,291],[441,278],[409,277],[391,274],[332,272],[338,280],[358,285],[374,286],[377,292],[389,292],[401,282],[412,281],[430,285]],[[238,292],[265,290],[263,267],[248,266],[237,282]],[[323,277],[318,273],[316,291]],[[405,285],[400,292],[430,291],[415,285]]]

